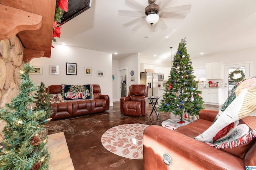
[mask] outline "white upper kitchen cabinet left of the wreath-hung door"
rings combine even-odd
[[[206,79],[222,79],[220,62],[205,64]]]

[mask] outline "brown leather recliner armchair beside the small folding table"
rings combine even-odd
[[[145,116],[148,111],[148,86],[131,85],[126,97],[120,98],[121,113],[128,116]]]

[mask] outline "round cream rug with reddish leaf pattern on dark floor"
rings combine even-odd
[[[130,159],[142,159],[143,132],[148,126],[134,123],[112,127],[102,134],[102,145],[108,151],[118,156]]]

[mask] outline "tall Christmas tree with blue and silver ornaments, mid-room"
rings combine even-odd
[[[160,101],[160,111],[171,112],[175,116],[183,114],[198,115],[204,109],[202,97],[199,96],[198,83],[193,73],[192,62],[187,53],[185,38],[179,43],[178,50],[172,61],[170,76],[165,87],[163,100]]]

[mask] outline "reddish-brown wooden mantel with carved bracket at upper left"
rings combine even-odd
[[[56,0],[0,0],[0,39],[18,34],[23,61],[50,57]]]

